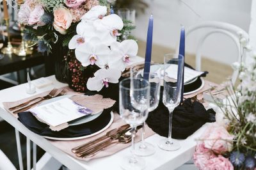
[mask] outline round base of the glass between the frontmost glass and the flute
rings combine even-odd
[[[150,143],[136,143],[135,144],[135,151],[134,154],[141,156],[141,157],[147,157],[150,155],[153,155],[156,152],[155,147],[153,144]]]

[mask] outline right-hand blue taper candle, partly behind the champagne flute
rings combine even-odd
[[[180,30],[180,49],[179,54],[184,56],[184,65],[183,65],[183,75],[182,75],[182,89],[181,89],[181,97],[180,102],[183,102],[183,93],[184,93],[184,66],[185,66],[185,28],[184,26],[181,27]]]

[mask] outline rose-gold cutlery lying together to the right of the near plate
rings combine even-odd
[[[137,127],[141,128],[141,126]],[[88,143],[82,144],[73,148],[71,151],[76,153],[77,157],[93,157],[99,151],[104,150],[111,144],[115,143],[129,143],[132,139],[132,132],[130,125],[123,125],[118,128],[109,130],[105,135],[98,137],[97,139]]]

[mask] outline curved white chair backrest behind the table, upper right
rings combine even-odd
[[[200,35],[200,39],[196,47],[196,70],[201,70],[202,46],[204,45],[205,40],[214,33],[221,33],[223,35],[227,35],[234,41],[234,43],[236,43],[237,61],[241,62],[241,52],[243,51],[241,42],[248,43],[249,40],[249,36],[246,31],[244,31],[240,27],[228,24],[226,22],[206,21],[189,27],[186,30],[186,37],[191,35],[191,33],[193,33],[194,31],[202,28],[207,28],[207,31],[205,31],[204,34]],[[236,82],[237,75],[238,70],[233,72],[231,79],[233,84],[235,84]]]

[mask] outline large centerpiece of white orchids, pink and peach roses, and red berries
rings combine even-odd
[[[122,42],[121,36],[134,26],[110,13],[106,0],[26,0],[18,15],[26,26],[25,38],[35,42],[39,52],[54,51],[53,57],[65,62],[68,73],[61,75],[76,91],[100,91],[118,83],[138,52],[134,40]]]

